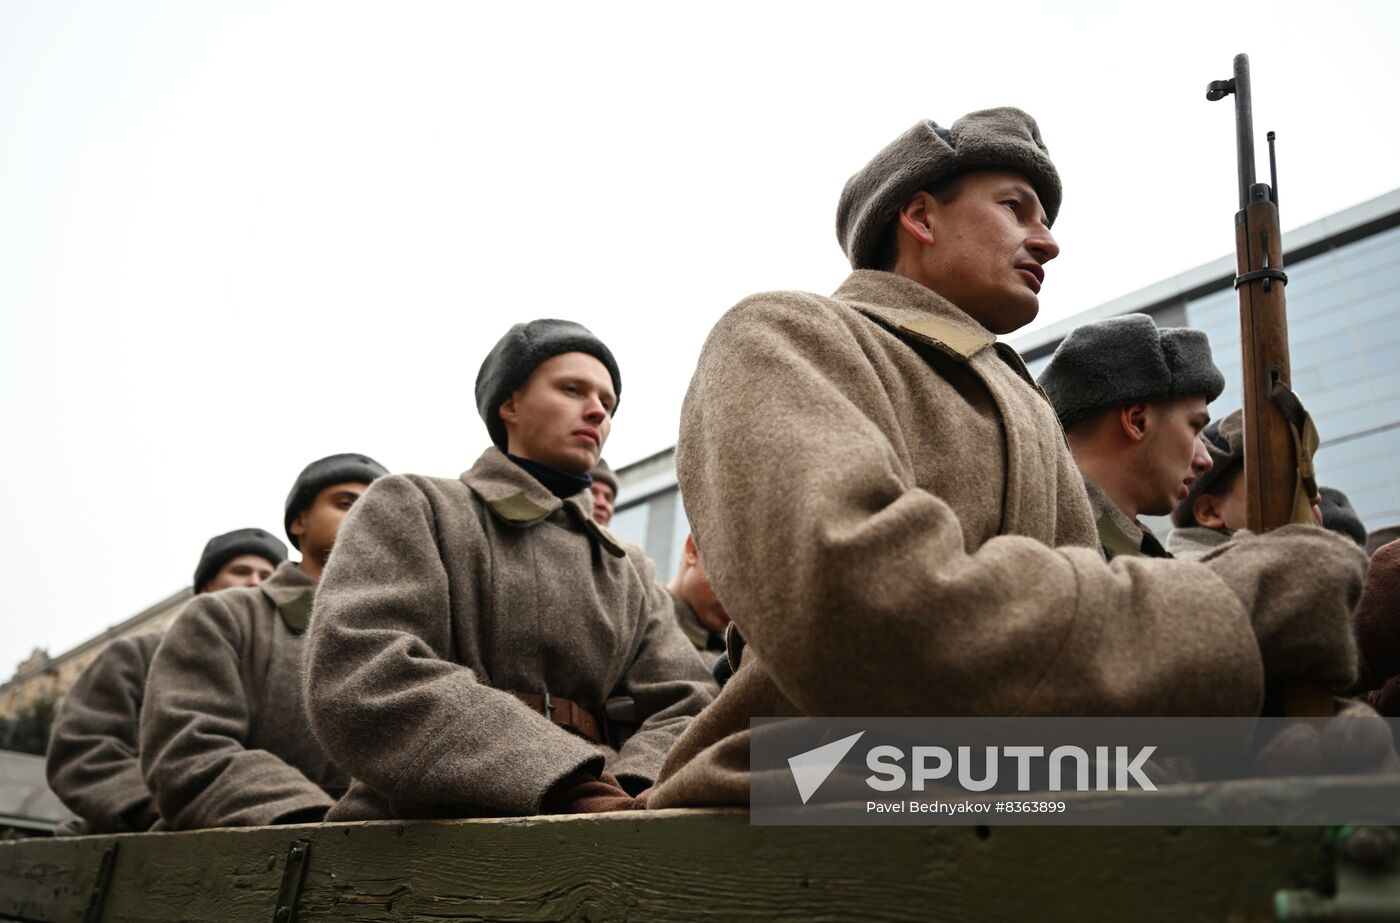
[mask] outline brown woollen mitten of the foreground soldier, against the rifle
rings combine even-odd
[[[1201,559],[1249,612],[1270,685],[1324,682],[1338,690],[1357,678],[1351,611],[1361,598],[1366,556],[1344,535],[1285,525],[1240,532]]]

